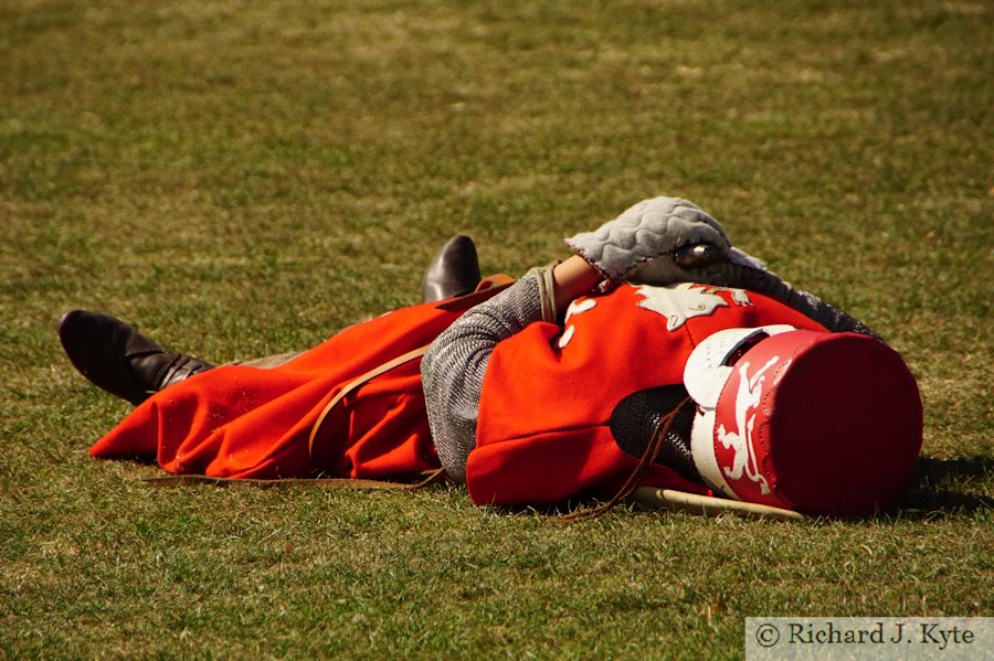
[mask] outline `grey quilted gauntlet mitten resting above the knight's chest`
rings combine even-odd
[[[604,276],[602,291],[620,282],[730,285],[722,268],[729,264],[765,270],[762,262],[732,247],[718,221],[678,198],[643,200],[565,243]]]

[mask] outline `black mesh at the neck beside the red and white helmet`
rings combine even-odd
[[[626,454],[641,458],[659,419],[686,398],[687,391],[681,385],[648,388],[628,395],[611,414],[611,434],[615,443]],[[699,480],[700,476],[690,456],[692,425],[694,403],[688,402],[670,424],[656,463],[674,469],[688,480]]]

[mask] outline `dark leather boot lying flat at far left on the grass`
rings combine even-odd
[[[59,339],[83,376],[136,406],[152,393],[214,366],[166,351],[119,319],[86,310],[63,314]]]

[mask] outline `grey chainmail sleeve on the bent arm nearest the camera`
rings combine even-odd
[[[535,321],[554,321],[549,273],[533,269],[470,308],[438,335],[421,361],[432,439],[442,467],[456,481],[466,481],[466,461],[476,447],[479,399],[494,348]]]

